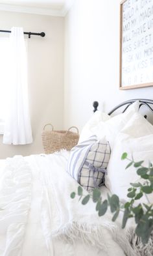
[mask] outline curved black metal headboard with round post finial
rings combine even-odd
[[[126,106],[123,110],[123,113],[124,111],[126,111],[126,109],[132,104],[134,103],[136,100],[139,100],[140,104],[139,104],[139,108],[143,105],[147,106],[148,109],[150,109],[150,111],[152,111],[153,113],[153,100],[148,100],[148,99],[144,99],[144,98],[135,98],[133,100],[126,100],[126,102],[122,102],[121,104],[117,105],[116,107],[114,107],[109,113],[108,115],[112,115],[113,112],[115,112],[117,109],[119,109],[120,107],[123,107],[123,106]],[[152,107],[151,107],[151,106]],[[99,102],[93,102],[93,107],[94,107],[94,110],[93,112],[97,111],[97,107],[99,106]]]

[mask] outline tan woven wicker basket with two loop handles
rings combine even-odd
[[[46,126],[51,126],[52,130],[45,130]],[[75,128],[77,133],[70,132],[71,128]],[[45,124],[41,137],[45,154],[51,154],[60,149],[71,150],[78,143],[78,128],[71,126],[67,131],[55,131],[52,124]]]

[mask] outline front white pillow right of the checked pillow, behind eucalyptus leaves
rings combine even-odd
[[[119,195],[120,199],[127,200],[126,195],[128,188],[130,188],[130,182],[134,183],[140,180],[133,165],[125,169],[130,162],[121,160],[123,152],[127,152],[130,159],[133,155],[135,162],[144,160],[143,165],[148,167],[149,160],[153,163],[153,134],[134,138],[128,134],[120,133],[115,139],[107,168],[108,175],[105,177],[105,185],[112,193]],[[149,194],[148,197],[153,203],[153,195]],[[145,202],[145,198],[141,200]]]

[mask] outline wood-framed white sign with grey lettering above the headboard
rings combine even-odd
[[[153,0],[120,7],[120,89],[153,86]]]

